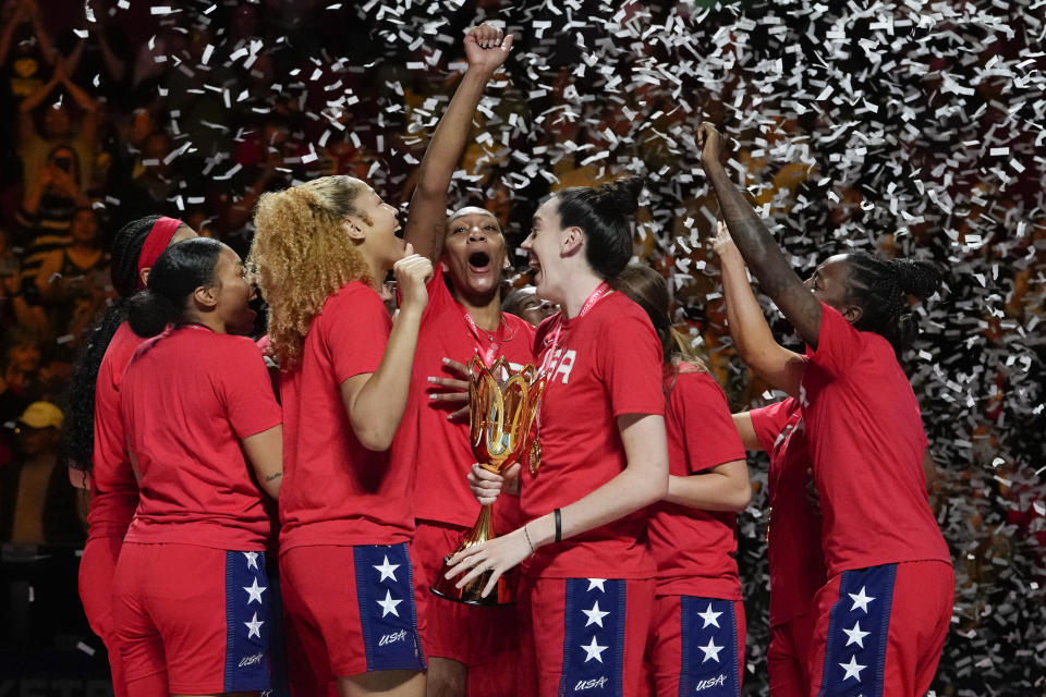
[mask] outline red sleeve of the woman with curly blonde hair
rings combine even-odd
[[[338,384],[378,369],[392,320],[377,293],[360,284],[345,286],[328,301],[316,321]]]

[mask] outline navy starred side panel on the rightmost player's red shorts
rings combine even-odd
[[[897,564],[846,571],[831,607],[818,697],[881,697]]]

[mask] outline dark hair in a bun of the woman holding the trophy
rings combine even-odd
[[[577,227],[588,242],[585,258],[604,278],[612,279],[632,258],[632,225],[643,180],[619,179],[596,187],[573,186],[555,194],[563,228]]]

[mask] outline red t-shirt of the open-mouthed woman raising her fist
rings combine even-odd
[[[465,308],[450,294],[447,282],[436,267],[428,283],[428,306],[422,316],[422,329],[414,355],[411,378],[412,408],[403,415],[397,432],[393,455],[417,470],[414,490],[414,515],[417,518],[471,526],[479,514],[479,504],[469,490],[466,476],[476,461],[469,444],[469,419],[447,420],[458,409],[428,395],[443,388],[428,381],[430,376],[460,378],[443,366],[443,357],[467,363],[478,350],[486,355],[491,345],[489,335],[478,329],[478,339],[465,321]],[[502,314],[502,325],[494,334],[497,356],[504,356],[519,370],[534,362],[534,328],[514,315]],[[513,505],[515,497],[499,501],[495,509]]]

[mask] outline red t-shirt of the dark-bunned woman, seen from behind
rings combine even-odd
[[[120,406],[142,475],[127,542],[264,549],[269,521],[240,441],[281,415],[253,341],[168,330],[135,352]]]

